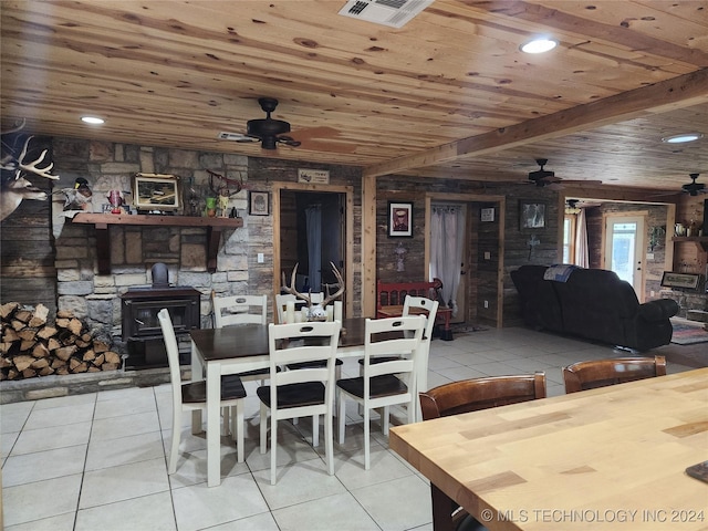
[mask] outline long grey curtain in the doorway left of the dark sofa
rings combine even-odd
[[[457,315],[457,289],[460,284],[465,216],[459,206],[434,205],[430,215],[430,279],[442,281],[442,301]]]

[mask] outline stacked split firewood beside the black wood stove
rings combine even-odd
[[[50,374],[115,371],[121,355],[92,337],[81,320],[59,311],[49,320],[44,304],[17,302],[0,305],[0,379],[22,379]]]

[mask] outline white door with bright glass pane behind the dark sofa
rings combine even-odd
[[[607,216],[605,218],[604,269],[617,273],[632,284],[639,301],[644,299],[643,216]]]

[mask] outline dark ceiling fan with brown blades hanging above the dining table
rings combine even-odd
[[[260,142],[263,149],[273,150],[278,144],[290,147],[300,147],[311,150],[327,150],[339,153],[351,153],[356,149],[355,145],[335,143],[335,142],[317,142],[314,138],[335,138],[340,132],[333,127],[311,127],[301,129],[298,133],[291,133],[290,124],[282,119],[271,117],[271,113],[278,107],[278,100],[274,97],[259,97],[258,104],[266,113],[264,118],[249,119],[246,123],[246,134],[221,132],[217,136],[222,140],[231,140],[238,143]]]

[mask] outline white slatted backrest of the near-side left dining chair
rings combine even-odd
[[[339,321],[269,324],[268,347],[270,362],[271,407],[277,402],[277,387],[305,382],[325,385],[325,400],[334,399],[334,365],[340,342]],[[278,367],[295,363],[326,362],[325,365],[279,371]]]

